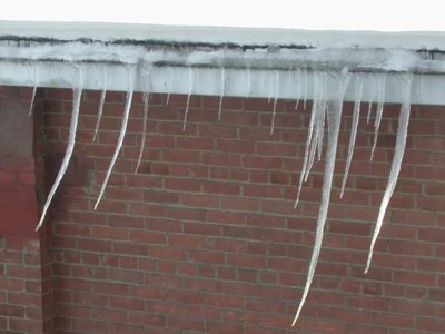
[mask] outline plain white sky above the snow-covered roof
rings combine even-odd
[[[445,31],[444,0],[1,0],[0,20]]]

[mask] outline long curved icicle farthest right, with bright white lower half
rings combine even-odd
[[[397,137],[396,145],[394,148],[394,157],[390,166],[388,184],[386,186],[385,194],[382,199],[380,209],[378,212],[377,223],[374,229],[373,239],[370,242],[368,259],[365,267],[365,274],[369,269],[370,261],[373,258],[374,245],[377,240],[377,236],[380,232],[383,219],[385,217],[386,208],[388,207],[389,199],[393,196],[394,189],[397,184],[398,174],[400,171],[402,160],[405,153],[406,137],[408,132],[408,122],[409,122],[409,111],[411,111],[411,84],[413,77],[406,77],[405,79],[405,100],[400,106],[400,115],[398,116],[398,128],[397,128]]]

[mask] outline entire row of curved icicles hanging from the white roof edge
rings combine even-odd
[[[99,104],[99,110],[98,110],[98,118],[97,118],[97,125],[96,125],[96,130],[93,135],[93,140],[96,139],[99,126],[100,126],[100,119],[102,116],[102,109],[103,109],[103,102],[106,98],[106,92],[107,92],[107,70],[106,67],[103,68],[103,90],[101,92],[100,97],[100,104]],[[192,75],[192,69],[189,68],[188,70],[188,81],[189,81],[189,90],[188,90],[188,97],[187,97],[187,106],[185,109],[185,117],[184,117],[184,128],[186,128],[187,125],[187,115],[189,110],[189,101],[190,101],[190,96],[192,94],[192,88],[194,88],[194,75]],[[304,96],[304,106],[306,108],[306,89],[307,89],[307,70],[298,70],[299,75],[305,73],[304,76],[300,76],[300,81],[298,82],[297,87],[297,96]],[[337,81],[337,91],[333,94],[329,91],[328,94],[328,87],[327,87],[327,76],[335,76],[336,81]],[[365,75],[364,75],[365,76]],[[350,128],[350,138],[349,138],[349,147],[348,147],[348,155],[347,155],[347,160],[346,160],[346,166],[345,166],[345,171],[344,171],[344,178],[342,183],[342,190],[340,190],[340,197],[344,194],[344,188],[346,184],[346,179],[349,173],[349,167],[354,154],[354,146],[355,146],[355,139],[357,135],[357,126],[358,126],[358,120],[359,120],[359,114],[360,114],[360,105],[362,105],[362,98],[364,94],[364,81],[365,77],[364,76],[355,76],[355,79],[350,79],[350,75],[348,73],[347,69],[344,69],[340,72],[314,72],[312,87],[313,87],[313,96],[312,96],[312,116],[310,116],[310,122],[308,126],[307,130],[307,140],[306,140],[306,146],[305,146],[305,156],[304,156],[304,161],[303,161],[303,169],[300,171],[300,177],[299,177],[299,184],[298,184],[298,190],[296,195],[296,202],[295,202],[295,207],[297,207],[298,200],[299,200],[299,195],[300,190],[303,187],[304,181],[307,180],[310,169],[313,167],[316,154],[318,156],[318,160],[322,157],[322,148],[323,148],[323,143],[324,143],[324,130],[327,124],[327,149],[326,149],[326,158],[325,158],[325,173],[324,173],[324,180],[323,180],[323,189],[322,189],[322,200],[320,200],[320,206],[319,206],[319,213],[318,213],[318,219],[317,219],[317,226],[316,226],[316,236],[315,236],[315,244],[314,244],[314,249],[313,249],[313,255],[310,258],[309,263],[309,269],[307,274],[307,281],[306,285],[303,292],[303,297],[300,299],[299,306],[297,308],[293,325],[298,320],[298,316],[301,312],[303,305],[305,304],[307,294],[310,288],[310,284],[314,277],[314,273],[316,269],[316,265],[318,262],[320,248],[322,248],[322,242],[323,242],[323,235],[324,235],[324,228],[325,228],[325,223],[327,218],[327,213],[328,213],[328,206],[329,206],[329,198],[330,198],[330,190],[332,190],[332,183],[333,183],[333,174],[334,174],[334,168],[335,168],[335,160],[336,160],[336,151],[337,151],[337,143],[338,143],[338,132],[340,128],[340,120],[342,120],[342,108],[343,108],[343,102],[344,102],[344,95],[346,87],[348,85],[354,85],[353,87],[355,88],[355,104],[354,104],[354,112],[353,112],[353,121],[352,121],[352,128]],[[375,135],[374,135],[374,143],[373,147],[370,149],[370,159],[373,159],[374,150],[376,147],[377,143],[377,135],[378,135],[378,128],[380,125],[382,116],[383,116],[383,107],[384,107],[384,101],[385,101],[385,85],[386,85],[386,75],[372,75],[372,76],[377,76],[377,80],[373,81],[376,82],[376,87],[374,87],[375,94],[374,94],[374,99],[368,101],[368,112],[367,112],[367,121],[369,121],[370,118],[370,112],[372,112],[372,106],[373,104],[377,104],[376,108],[376,116],[375,116]],[[132,94],[134,94],[134,77],[135,77],[135,68],[128,67],[128,91],[127,91],[127,99],[123,108],[123,117],[122,117],[122,122],[121,122],[121,129],[118,138],[118,143],[116,145],[115,153],[112,155],[109,168],[107,170],[105,180],[102,183],[102,186],[100,188],[99,196],[97,198],[97,202],[95,204],[95,209],[97,209],[103,194],[107,187],[108,179],[111,175],[113,165],[117,160],[117,157],[119,155],[119,151],[121,149],[123,138],[126,135],[127,130],[127,124],[129,119],[129,114],[130,114],[130,108],[131,108],[131,100],[132,100]],[[169,76],[170,77],[170,76]],[[247,78],[249,78],[249,70],[247,70]],[[275,85],[274,82],[270,84],[270,98],[274,97],[274,104],[273,104],[273,120],[271,120],[271,129],[270,132],[274,132],[274,124],[275,124],[275,112],[276,112],[276,106],[277,106],[277,96],[278,96],[278,80],[279,80],[279,72],[275,72]],[[305,79],[303,79],[303,77]],[[32,92],[32,101],[31,101],[31,107],[30,107],[30,112],[32,110],[32,102],[36,96],[36,88],[37,88],[37,70],[34,70],[34,89]],[[68,138],[68,147],[62,160],[62,165],[60,167],[60,170],[57,175],[57,178],[55,180],[55,184],[52,185],[52,188],[48,195],[48,198],[44,203],[43,210],[40,217],[40,220],[38,223],[37,229],[39,229],[44,220],[47,210],[49,208],[49,205],[52,200],[52,197],[67,170],[68,164],[70,161],[75,143],[76,143],[76,131],[77,131],[77,125],[78,125],[78,117],[79,117],[79,108],[80,108],[80,100],[81,100],[81,94],[82,94],[82,71],[80,67],[73,67],[73,104],[72,104],[72,115],[71,115],[71,125],[70,125],[70,131],[69,131],[69,138]],[[142,95],[144,98],[144,120],[142,120],[142,137],[141,137],[141,143],[140,143],[140,153],[139,153],[139,158],[137,163],[137,167],[135,173],[138,171],[141,158],[142,158],[142,153],[145,149],[145,141],[146,141],[146,131],[147,131],[147,115],[148,115],[148,104],[149,104],[149,95],[150,95],[150,72],[147,71],[145,73],[145,81],[147,82],[147,89],[146,92]],[[398,174],[400,170],[400,164],[403,159],[403,155],[405,151],[405,144],[406,144],[406,136],[407,136],[407,127],[408,127],[408,120],[409,120],[409,109],[411,109],[411,90],[412,90],[412,76],[406,75],[403,77],[404,81],[404,101],[402,102],[400,107],[400,112],[399,112],[399,118],[398,118],[398,129],[397,129],[397,137],[396,137],[396,145],[395,145],[395,150],[394,150],[394,158],[390,167],[390,173],[388,177],[388,184],[386,187],[386,190],[384,193],[379,213],[378,213],[378,218],[377,223],[374,229],[370,247],[369,247],[369,253],[368,253],[368,258],[365,267],[365,273],[367,273],[370,261],[373,257],[373,249],[375,242],[377,239],[377,236],[379,234],[379,230],[382,228],[383,219],[385,216],[386,208],[388,206],[388,202],[393,195],[394,188],[396,186],[396,181],[398,178]],[[222,106],[222,98],[225,96],[225,90],[226,90],[226,73],[225,69],[221,68],[221,89],[220,89],[220,100],[219,100],[219,110],[218,110],[218,117],[220,118],[221,116],[221,106]],[[169,82],[170,84],[170,82]],[[249,79],[247,79],[246,85],[249,84]],[[275,87],[275,91],[274,91]],[[170,89],[170,88],[169,88]],[[304,92],[301,94],[301,90]],[[247,89],[249,91],[249,89]],[[170,91],[167,95],[167,104],[169,100]],[[299,98],[296,101],[295,109],[298,108],[299,104]]]

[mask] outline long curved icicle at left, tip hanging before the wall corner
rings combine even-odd
[[[40,216],[39,224],[36,227],[36,230],[39,230],[41,225],[43,224],[44,217],[47,215],[49,205],[51,204],[52,197],[56,194],[57,188],[60,185],[61,179],[63,178],[65,173],[67,171],[68,164],[71,159],[72,151],[75,149],[75,144],[76,144],[76,131],[77,131],[77,125],[79,121],[79,109],[80,109],[80,99],[82,96],[82,87],[83,87],[83,76],[82,76],[82,69],[78,66],[76,66],[76,69],[78,71],[78,77],[75,79],[77,82],[73,84],[72,88],[72,111],[71,111],[71,124],[70,124],[70,130],[69,130],[69,136],[68,136],[68,145],[67,145],[67,150],[65,151],[62,165],[59,169],[59,173],[57,174],[55,184],[52,185],[51,190],[49,191],[47,202],[44,203],[42,214]]]

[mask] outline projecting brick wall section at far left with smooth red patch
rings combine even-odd
[[[52,333],[49,230],[34,230],[44,169],[41,96],[40,117],[28,116],[29,102],[28,89],[0,87],[0,333]]]

